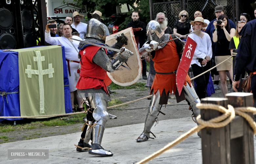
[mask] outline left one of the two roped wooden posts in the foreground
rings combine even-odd
[[[202,103],[217,104],[227,108],[227,98],[203,98]],[[216,110],[201,110],[201,118],[210,120],[222,115]],[[229,125],[201,130],[203,164],[230,164]]]

